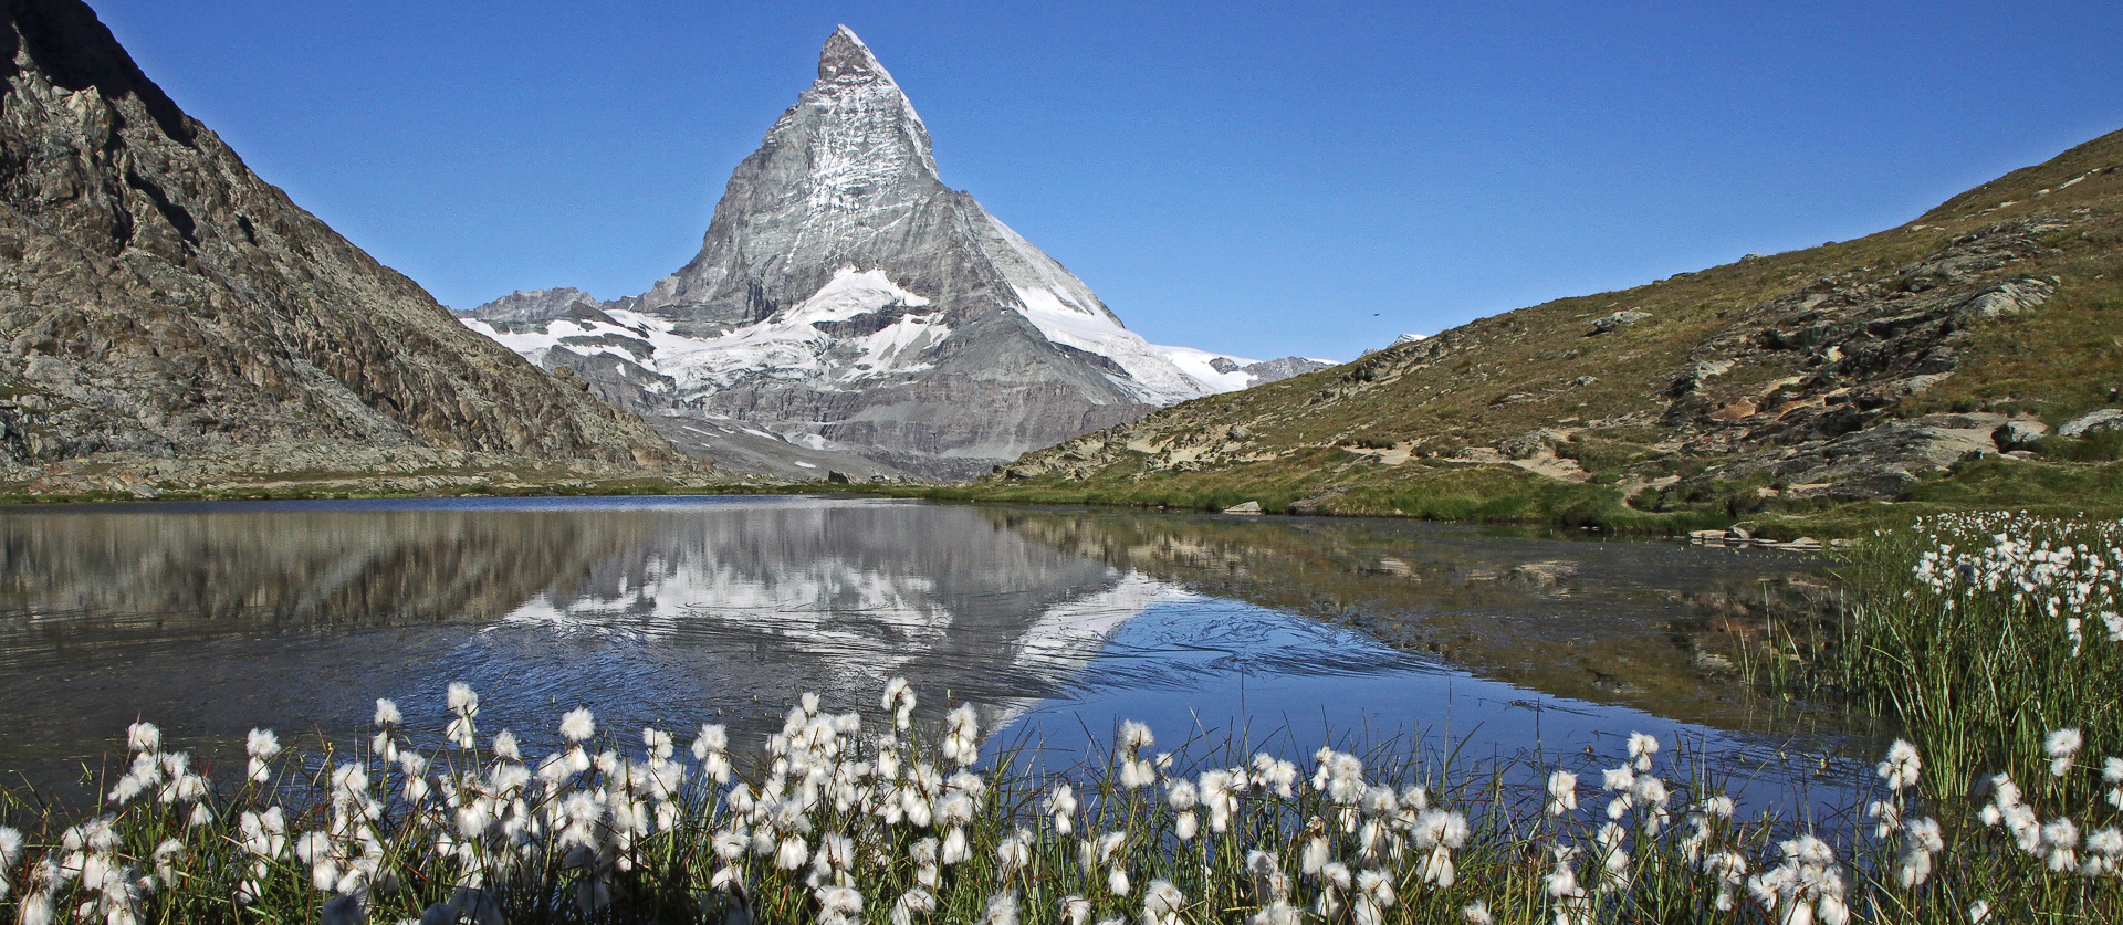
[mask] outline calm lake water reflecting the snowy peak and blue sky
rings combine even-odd
[[[146,717],[206,760],[253,726],[350,740],[376,698],[439,732],[728,721],[798,692],[983,706],[1068,764],[1161,747],[1586,766],[1628,732],[1777,796],[1877,743],[1734,666],[1834,600],[1826,562],[1376,520],[853,499],[155,503],[0,509],[0,770],[62,781]],[[439,738],[439,736],[435,736]],[[1822,755],[1828,755],[1824,770]]]

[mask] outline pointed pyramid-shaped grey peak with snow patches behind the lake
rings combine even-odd
[[[945,187],[913,102],[845,25],[679,272],[616,301],[516,293],[465,322],[573,369],[679,448],[779,475],[972,477],[1282,369],[1127,331]],[[760,437],[824,456],[771,458],[786,454]]]

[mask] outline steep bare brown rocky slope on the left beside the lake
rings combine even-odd
[[[0,2],[0,482],[684,460],[257,178],[83,2]]]

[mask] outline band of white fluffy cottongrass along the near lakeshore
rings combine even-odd
[[[0,919],[1630,923],[2021,921],[2123,910],[2123,760],[2053,730],[2044,781],[1928,800],[1898,740],[1849,825],[1741,819],[1707,774],[1630,736],[1590,791],[1571,770],[1408,779],[1405,755],[1318,749],[1180,762],[1142,723],[1110,760],[1045,772],[983,757],[979,715],[892,723],[802,696],[756,764],[722,726],[624,743],[588,709],[524,753],[448,696],[422,751],[395,702],[357,753],[246,738],[210,781],[151,723],[87,817],[0,827]],[[1367,762],[1369,757],[1369,762]],[[756,772],[741,772],[756,766]],[[1310,770],[1310,774],[1306,772]],[[2081,800],[2078,793],[2098,798]]]

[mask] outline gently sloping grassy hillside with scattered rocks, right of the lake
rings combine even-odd
[[[974,494],[1645,528],[2115,503],[2119,168],[2102,136],[1889,231],[1189,401]]]

